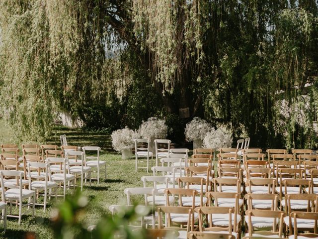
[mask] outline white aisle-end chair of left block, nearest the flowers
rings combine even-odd
[[[91,169],[97,168],[97,178],[91,178],[91,179],[92,180],[97,179],[97,183],[99,183],[99,173],[101,172],[101,167],[104,167],[105,179],[106,179],[106,162],[99,159],[100,147],[84,146],[82,147],[82,150],[84,152],[85,166],[90,167]],[[87,156],[86,151],[96,151],[96,156]]]

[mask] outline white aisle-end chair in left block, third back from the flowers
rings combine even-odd
[[[54,172],[51,174],[50,181],[56,182],[60,184],[61,186],[63,184],[63,199],[65,200],[66,189],[71,187],[70,183],[72,181],[73,181],[72,186],[75,188],[75,184],[74,184],[75,176],[73,174],[67,173],[67,159],[48,157],[46,161],[50,165],[50,172],[52,172],[51,166],[54,166],[53,167]],[[62,196],[62,195],[58,195],[58,196]]]

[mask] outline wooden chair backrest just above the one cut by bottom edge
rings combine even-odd
[[[232,233],[232,217],[233,217],[233,213],[234,213],[234,225],[233,225],[233,230],[234,232],[236,232],[236,228],[237,228],[237,214],[235,213],[235,211],[232,208],[228,208],[228,207],[197,207],[194,210],[196,213],[198,213],[199,216],[199,230],[200,232],[204,232],[204,231],[221,231],[221,228],[216,227],[215,225],[213,225],[213,215],[214,214],[224,214],[224,215],[229,215],[229,223],[228,223],[228,228],[223,228],[222,231],[226,231],[228,230],[229,234]],[[206,217],[206,219],[208,220],[208,228],[204,228],[203,224],[203,216],[204,215],[209,215]]]

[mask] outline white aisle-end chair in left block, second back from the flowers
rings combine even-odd
[[[69,166],[69,173],[75,175],[75,181],[77,177],[80,176],[80,191],[83,190],[83,181],[85,179],[89,179],[89,185],[91,185],[91,168],[84,166],[84,152],[80,151],[68,151],[66,152],[66,157],[69,159],[70,156],[76,156],[76,158],[80,157],[79,160],[79,166],[71,166],[70,163],[68,163]]]

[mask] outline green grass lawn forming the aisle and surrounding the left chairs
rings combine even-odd
[[[52,135],[48,143],[60,145],[60,134],[66,134],[69,145],[96,145],[102,148],[101,160],[107,162],[107,179],[102,180],[97,184],[96,180],[92,181],[91,186],[87,183],[84,186],[83,194],[88,197],[89,205],[87,214],[83,219],[88,225],[95,224],[103,214],[109,214],[108,207],[112,204],[126,202],[124,189],[128,187],[142,187],[141,177],[147,175],[146,169],[139,169],[135,173],[134,158],[122,160],[121,155],[111,150],[110,136],[106,134],[96,134],[94,132],[84,132],[80,129],[71,130],[68,128],[58,127]],[[155,160],[153,161],[155,163]],[[141,164],[145,164],[141,163]],[[143,166],[143,165],[141,165]],[[150,175],[150,173],[148,173]],[[94,175],[93,175],[94,176]],[[69,190],[70,193],[73,190]],[[41,199],[41,198],[40,198]],[[41,201],[41,200],[40,200]],[[58,198],[57,203],[61,203],[62,198]],[[35,218],[31,216],[31,211],[26,208],[23,212],[26,215],[22,216],[21,225],[18,225],[17,219],[8,218],[7,231],[0,233],[0,238],[29,238],[36,236],[38,239],[51,239],[53,232],[51,231],[50,212],[54,208],[55,200],[51,199],[48,202],[47,211],[43,213],[43,207],[37,206]],[[17,210],[13,210],[17,214]]]

